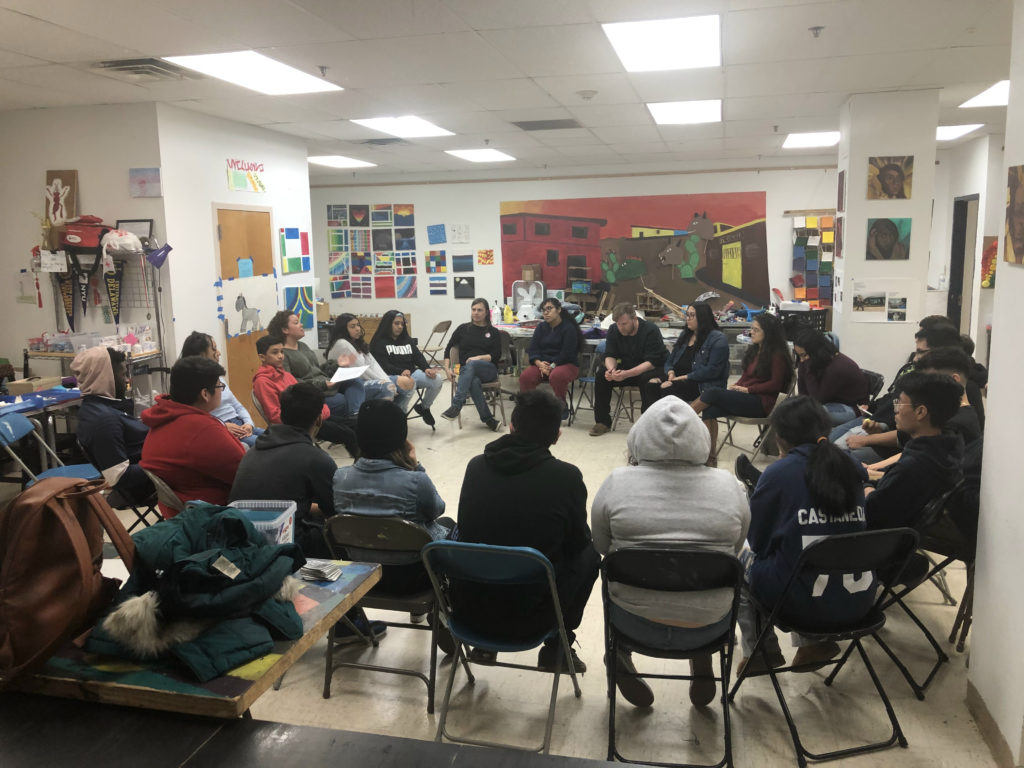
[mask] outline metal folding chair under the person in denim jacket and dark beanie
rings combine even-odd
[[[324,665],[324,698],[331,697],[331,679],[337,667],[349,667],[356,670],[387,672],[392,675],[408,675],[422,680],[427,686],[427,713],[434,712],[434,687],[437,680],[437,602],[430,581],[423,569],[420,560],[420,550],[431,542],[430,534],[422,525],[399,517],[371,517],[368,515],[335,515],[328,518],[324,526],[324,539],[328,549],[339,559],[359,560],[361,562],[379,562],[383,566],[381,581],[359,600],[358,608],[377,608],[379,610],[395,610],[414,614],[427,614],[427,624],[411,622],[385,622],[388,627],[410,630],[427,630],[430,632],[430,669],[427,674],[420,670],[401,667],[381,667],[357,662],[336,662],[334,631],[328,634],[327,653]],[[388,582],[398,570],[402,571],[406,584],[397,585],[395,589]],[[412,590],[406,585],[410,580],[410,571],[419,572],[422,577],[422,587]],[[367,645],[378,646],[374,633],[364,635],[350,622],[349,629],[358,634]]]

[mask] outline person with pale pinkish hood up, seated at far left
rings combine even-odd
[[[140,503],[153,494],[153,483],[139,466],[150,429],[135,418],[135,403],[125,397],[128,372],[124,352],[91,347],[76,355],[71,370],[82,390],[78,441],[114,488],[111,506]]]

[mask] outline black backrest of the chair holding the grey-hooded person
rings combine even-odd
[[[627,547],[604,558],[601,572],[612,584],[658,592],[738,590],[743,567],[734,556],[694,547]]]

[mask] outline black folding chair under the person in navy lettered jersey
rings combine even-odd
[[[882,606],[892,595],[892,586],[899,579],[903,568],[906,566],[907,559],[913,553],[916,546],[918,534],[911,528],[865,530],[859,534],[843,534],[820,539],[809,545],[801,553],[782,596],[768,614],[764,629],[758,635],[754,650],[751,653],[752,658],[761,652],[764,639],[773,626],[778,627],[783,632],[797,632],[811,640],[822,643],[849,640],[850,647],[841,660],[833,659],[825,663],[826,665],[834,666],[831,674],[825,678],[825,685],[833,684],[836,674],[849,657],[852,649],[856,648],[861,660],[864,663],[867,674],[870,675],[879,697],[885,705],[889,722],[892,725],[889,737],[882,741],[836,750],[834,752],[819,754],[810,752],[800,740],[800,734],[797,732],[797,723],[793,719],[790,707],[785,702],[785,696],[782,695],[782,688],[778,684],[779,673],[790,672],[795,668],[785,667],[776,670],[769,667],[767,673],[763,674],[771,677],[772,686],[775,688],[775,695],[778,697],[779,706],[782,708],[785,722],[790,726],[790,735],[793,737],[793,744],[797,752],[797,763],[801,768],[807,765],[808,758],[811,760],[836,760],[838,758],[850,757],[851,755],[861,755],[877,750],[885,750],[896,743],[899,743],[900,746],[906,746],[906,737],[903,735],[899,721],[896,719],[896,713],[889,701],[889,696],[882,686],[882,681],[879,680],[879,676],[874,672],[867,653],[864,651],[861,638],[870,636],[876,640],[879,639],[878,632],[886,623],[886,614]],[[814,624],[805,624],[802,621],[786,616],[785,603],[790,592],[796,589],[806,589],[801,577],[805,581],[810,580],[813,582],[820,580],[822,577],[826,579],[844,579],[850,574],[864,574],[869,572],[876,574],[882,586],[882,590],[874,604],[863,616],[841,626],[830,626],[828,628],[822,628]],[[732,686],[732,690],[729,691],[730,701],[735,698],[736,691],[748,677],[751,677],[751,675],[748,673],[748,669],[744,668]]]

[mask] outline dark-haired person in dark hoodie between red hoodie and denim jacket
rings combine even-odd
[[[324,392],[299,382],[281,393],[281,423],[256,438],[234,475],[230,501],[289,499],[296,503],[295,542],[309,557],[331,557],[324,517],[334,514],[338,466],[313,442],[323,422]],[[314,512],[314,508],[318,513]]]

